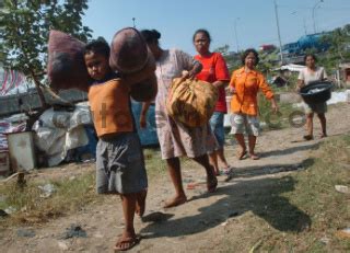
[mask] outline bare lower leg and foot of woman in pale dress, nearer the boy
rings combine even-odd
[[[182,171],[178,158],[166,159],[168,173],[175,187],[175,197],[165,202],[164,208],[179,206],[187,202],[187,197],[183,186]]]

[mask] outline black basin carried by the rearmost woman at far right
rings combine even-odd
[[[315,81],[300,89],[300,94],[306,104],[324,103],[330,99],[331,82]]]

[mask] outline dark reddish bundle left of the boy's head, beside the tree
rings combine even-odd
[[[50,31],[47,73],[54,90],[88,90],[92,80],[84,62],[84,46],[66,33]]]

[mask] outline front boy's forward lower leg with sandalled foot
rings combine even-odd
[[[121,195],[125,229],[121,237],[118,239],[116,243],[115,250],[131,249],[138,242],[138,239],[136,237],[135,229],[133,229],[136,199],[137,199],[137,194],[135,193]]]

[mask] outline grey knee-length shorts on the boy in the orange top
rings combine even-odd
[[[96,189],[103,193],[138,193],[148,187],[144,159],[137,133],[100,139],[96,147]]]

